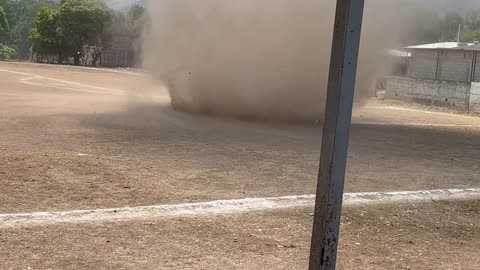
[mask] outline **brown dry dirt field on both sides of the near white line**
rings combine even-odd
[[[313,124],[174,112],[136,72],[1,62],[0,130],[2,214],[312,194],[321,140]],[[480,118],[372,101],[346,191],[478,188],[479,147]],[[479,209],[349,207],[340,265],[478,269]],[[296,209],[1,229],[0,269],[304,269],[310,224]]]

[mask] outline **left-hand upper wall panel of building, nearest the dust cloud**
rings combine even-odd
[[[408,62],[407,76],[421,79],[435,79],[437,73],[438,51],[415,50]]]

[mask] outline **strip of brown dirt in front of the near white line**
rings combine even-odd
[[[480,201],[344,210],[339,269],[476,270]],[[2,269],[306,269],[311,209],[0,231]]]

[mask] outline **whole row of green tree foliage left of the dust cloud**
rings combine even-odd
[[[141,6],[121,13],[96,0],[0,0],[0,44],[19,59],[80,64],[90,54],[95,65],[114,36],[138,37],[142,15]]]

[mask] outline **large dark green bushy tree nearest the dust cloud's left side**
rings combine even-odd
[[[57,8],[38,12],[28,39],[39,61],[55,55],[58,63],[73,59],[75,65],[95,66],[114,36],[138,37],[142,16],[140,6],[124,14],[95,0],[62,0]]]

